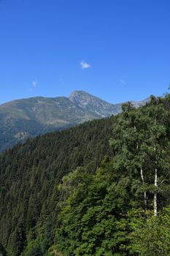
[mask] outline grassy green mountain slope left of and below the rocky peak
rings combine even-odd
[[[0,151],[29,137],[101,118],[66,97],[34,97],[0,106]]]

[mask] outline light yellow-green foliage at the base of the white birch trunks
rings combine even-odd
[[[136,252],[141,256],[170,255],[170,207],[164,208],[158,217],[134,210],[128,216],[131,226],[128,249],[132,255]]]

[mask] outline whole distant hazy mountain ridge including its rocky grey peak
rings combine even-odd
[[[145,103],[134,102],[134,105]],[[117,115],[121,105],[108,103],[86,91],[73,91],[69,97],[32,97],[4,103],[0,105],[0,151],[36,135]]]

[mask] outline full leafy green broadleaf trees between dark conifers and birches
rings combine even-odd
[[[78,169],[63,178],[60,189],[66,198],[55,242],[65,255],[125,255],[120,245],[125,243],[123,209],[129,182],[111,181],[111,168],[102,167],[94,176]],[[74,184],[69,192],[67,184]]]

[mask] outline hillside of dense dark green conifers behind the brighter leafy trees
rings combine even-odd
[[[53,244],[58,216],[58,183],[78,166],[95,173],[115,118],[28,140],[0,157],[0,241],[9,255],[20,255],[38,237],[43,253]]]

